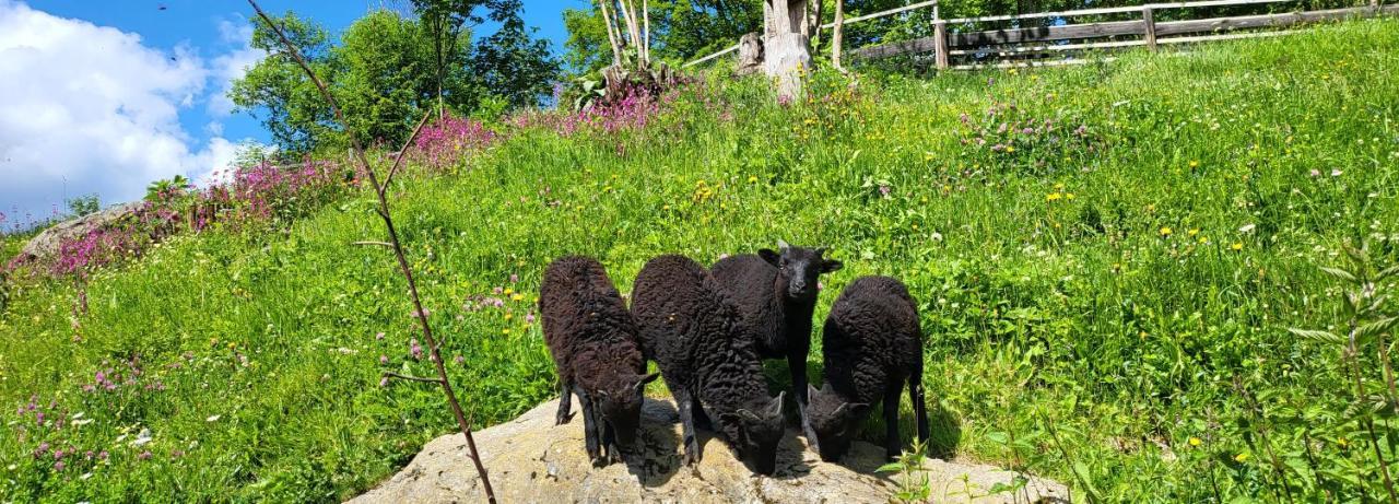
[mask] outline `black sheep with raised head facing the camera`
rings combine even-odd
[[[811,350],[811,314],[817,283],[839,260],[823,258],[824,248],[809,249],[778,241],[778,252],[737,255],[713,263],[711,273],[739,311],[739,330],[757,342],[762,358],[786,358],[799,409],[806,407],[806,356]]]

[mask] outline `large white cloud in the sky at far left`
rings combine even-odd
[[[215,134],[196,150],[179,123],[221,69],[192,48],[0,0],[0,211],[43,217],[64,192],[133,200],[151,181],[227,165],[232,143]]]

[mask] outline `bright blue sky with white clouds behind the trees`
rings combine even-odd
[[[406,0],[262,0],[339,34],[369,10]],[[564,8],[586,0],[525,0],[525,22],[562,50]],[[64,197],[104,204],[141,196],[150,181],[201,176],[235,144],[266,141],[229,113],[228,81],[260,55],[248,48],[242,0],[0,0],[0,228],[43,218]],[[490,35],[494,27],[476,29]]]

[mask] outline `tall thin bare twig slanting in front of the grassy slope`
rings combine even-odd
[[[320,91],[320,95],[330,105],[330,111],[334,112],[336,120],[340,122],[343,127],[346,127],[347,133],[350,133],[348,134],[350,146],[354,147],[355,157],[360,158],[360,165],[364,167],[365,175],[369,178],[369,183],[374,185],[374,192],[379,197],[378,213],[379,217],[383,218],[385,230],[389,231],[389,244],[393,245],[395,256],[397,256],[399,270],[403,273],[403,279],[409,284],[409,297],[413,300],[413,308],[414,308],[413,312],[417,314],[418,326],[422,330],[422,337],[428,343],[429,354],[432,357],[432,365],[436,368],[439,379],[438,385],[442,386],[442,393],[446,395],[446,402],[448,405],[452,406],[452,414],[456,417],[456,424],[457,427],[460,427],[462,435],[466,437],[466,445],[471,451],[470,452],[471,462],[476,465],[477,475],[481,476],[481,489],[485,491],[485,500],[494,504],[495,491],[491,489],[491,479],[485,473],[485,466],[481,465],[481,454],[476,449],[476,438],[471,437],[471,424],[466,420],[466,414],[462,413],[462,403],[456,400],[456,392],[452,391],[452,382],[446,377],[446,367],[442,365],[442,354],[438,351],[436,339],[432,337],[432,326],[428,323],[427,311],[422,309],[422,300],[418,295],[417,281],[413,280],[413,267],[409,266],[409,259],[403,253],[403,244],[399,241],[399,232],[393,227],[393,217],[392,213],[389,211],[389,200],[388,197],[385,197],[386,186],[379,183],[379,178],[378,175],[375,175],[374,167],[369,164],[368,155],[365,155],[364,146],[360,144],[360,139],[354,136],[354,132],[350,132],[350,123],[346,122],[344,113],[340,112],[340,105],[336,102],[336,98],[330,95],[330,90],[326,88],[326,84],[322,83],[319,77],[316,77],[316,73],[311,70],[311,66],[306,64],[306,60],[304,57],[301,57],[301,52],[297,50],[297,46],[287,39],[287,35],[283,34],[281,28],[278,28],[277,24],[273,22],[270,17],[267,17],[267,13],[263,13],[262,7],[257,7],[257,1],[248,0],[248,3],[253,7],[255,11],[257,11],[257,17],[260,17],[264,22],[267,22],[267,27],[277,34],[277,38],[281,39],[283,46],[287,48],[287,53],[290,53],[292,59],[297,60],[297,64],[301,66],[301,70],[304,70],[306,76],[311,77],[311,81],[316,84],[316,90]],[[403,151],[407,150],[407,146],[413,143],[416,136],[417,130],[414,130],[414,134],[410,136],[409,140],[404,143],[404,148],[399,150],[399,155],[395,160],[395,167],[397,167],[397,164],[403,161]]]

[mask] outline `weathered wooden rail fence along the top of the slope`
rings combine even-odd
[[[1353,8],[1156,21],[1157,13],[1170,10],[1265,6],[1288,1],[1294,0],[1175,1],[1132,7],[1083,8],[1056,13],[942,20],[937,15],[937,1],[932,0],[845,20],[845,24],[849,25],[853,22],[908,13],[916,8],[932,7],[935,13],[932,21],[932,36],[879,43],[844,53],[849,55],[852,60],[874,60],[891,56],[930,57],[932,63],[939,70],[963,70],[986,66],[1074,64],[1084,63],[1086,60],[1067,57],[1073,52],[1135,46],[1146,46],[1154,52],[1161,45],[1277,36],[1293,32],[1287,28],[1308,22],[1399,14],[1399,4],[1385,6],[1372,0],[1370,6]],[[1133,18],[1069,24],[1069,21],[1074,18],[1084,17]],[[1053,22],[1049,25],[1025,27],[1025,21],[1031,21],[1031,24],[1044,24],[1044,20],[1052,20]],[[1009,22],[1013,27],[970,31],[974,27],[983,27],[992,22]],[[821,25],[823,29],[831,29],[834,27],[834,22]],[[686,63],[686,66],[688,67],[712,60],[733,52],[734,49],[737,49],[737,46],[730,46],[725,50]],[[965,60],[965,63],[953,64],[953,57],[960,57]]]

